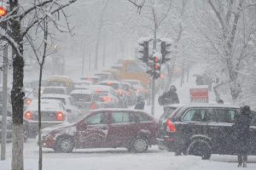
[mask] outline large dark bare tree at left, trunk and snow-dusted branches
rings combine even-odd
[[[13,110],[13,150],[12,170],[23,170],[23,77],[24,77],[24,40],[29,31],[43,23],[46,18],[54,20],[52,14],[63,12],[70,4],[77,0],[69,1],[34,1],[22,4],[18,0],[9,0],[9,14],[1,21],[8,20],[8,30],[1,30],[1,38],[11,45],[13,55],[13,87],[11,91]],[[24,5],[24,6],[21,6]],[[37,11],[42,14],[38,15]],[[64,13],[63,13],[64,14]],[[58,27],[61,30],[61,27]]]

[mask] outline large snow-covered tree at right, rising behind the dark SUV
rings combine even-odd
[[[236,102],[242,89],[242,77],[239,73],[242,63],[252,57],[248,43],[250,35],[255,33],[255,26],[247,20],[247,14],[248,8],[255,4],[247,0],[207,0],[207,3],[196,4],[201,4],[201,8],[204,8],[199,10],[201,25],[197,27],[207,42],[204,45],[207,49],[207,61],[212,63],[212,69],[214,65],[218,65],[215,66],[215,71],[224,75],[224,78],[219,79],[228,84],[232,100]]]

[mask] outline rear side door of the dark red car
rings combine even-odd
[[[137,134],[137,122],[129,111],[112,111],[108,131],[108,144],[120,147],[128,144]]]

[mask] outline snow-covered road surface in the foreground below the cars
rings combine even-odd
[[[0,170],[11,168],[11,144],[7,144],[7,159],[0,161]],[[45,170],[220,170],[239,169],[236,156],[213,155],[203,161],[196,156],[174,156],[174,153],[149,148],[147,153],[129,153],[125,149],[74,150],[73,153],[55,153],[44,149]],[[248,157],[247,169],[256,169],[256,156]],[[38,169],[38,146],[35,139],[28,139],[24,150],[25,170]]]

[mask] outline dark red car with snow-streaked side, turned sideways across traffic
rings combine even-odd
[[[118,148],[145,152],[156,144],[157,123],[144,111],[104,109],[91,111],[77,122],[47,127],[42,146],[57,152],[84,148]]]

